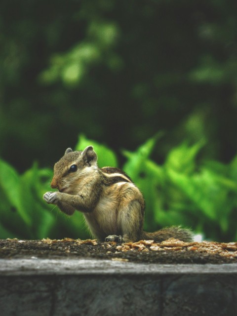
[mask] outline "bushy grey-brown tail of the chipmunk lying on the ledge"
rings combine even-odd
[[[194,240],[194,234],[191,230],[181,228],[180,226],[166,227],[154,233],[143,232],[143,239],[145,240],[161,242],[169,238],[175,238],[189,242]]]

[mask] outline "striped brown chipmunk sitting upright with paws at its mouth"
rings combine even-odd
[[[83,212],[91,234],[100,241],[193,240],[193,233],[180,227],[143,232],[145,201],[141,191],[120,169],[99,168],[92,146],[75,152],[68,148],[54,165],[51,187],[59,192],[46,192],[43,199],[68,215],[75,210]]]

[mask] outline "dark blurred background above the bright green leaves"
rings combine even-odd
[[[52,166],[79,133],[120,158],[158,131],[237,154],[236,0],[1,0],[0,156]]]

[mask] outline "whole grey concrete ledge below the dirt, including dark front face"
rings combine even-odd
[[[0,260],[4,316],[236,316],[237,264]]]

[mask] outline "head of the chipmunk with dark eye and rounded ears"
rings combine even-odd
[[[92,146],[75,152],[68,148],[54,165],[51,188],[74,194],[80,180],[94,173],[97,168],[97,155]]]

